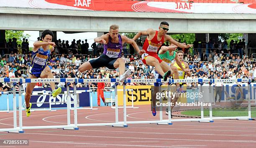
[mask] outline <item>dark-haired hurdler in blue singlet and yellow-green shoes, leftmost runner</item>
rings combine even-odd
[[[41,39],[42,41],[34,42],[33,52],[32,52],[32,62],[29,68],[29,79],[36,79],[36,78],[54,78],[53,74],[51,73],[51,69],[47,66],[47,62],[50,59],[50,54],[54,51],[55,43],[51,42],[54,34],[51,30],[44,30]],[[56,97],[59,93],[61,93],[61,88],[55,89],[54,82],[50,83],[52,96]],[[36,83],[28,83],[26,88],[25,94],[25,101],[26,101],[26,113],[27,116],[30,116],[30,109],[31,109],[31,93],[36,86]]]

